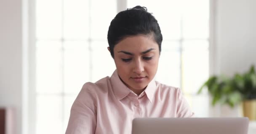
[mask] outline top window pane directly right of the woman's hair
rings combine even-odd
[[[159,3],[161,6],[155,6]],[[128,0],[127,5],[128,8],[136,5],[147,7],[149,13],[153,13],[157,19],[164,39],[181,38],[181,3],[179,0]]]

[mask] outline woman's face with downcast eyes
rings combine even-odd
[[[114,47],[117,73],[124,84],[140,94],[155,77],[159,48],[153,36],[126,37]]]

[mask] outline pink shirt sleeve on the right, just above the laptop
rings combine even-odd
[[[191,111],[186,98],[181,93],[181,89],[178,90],[177,96],[177,117],[195,117],[195,113]]]

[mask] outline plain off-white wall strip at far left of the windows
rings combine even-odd
[[[0,0],[0,107],[15,108],[16,134],[21,134],[21,10],[21,0]]]

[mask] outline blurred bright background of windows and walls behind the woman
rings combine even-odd
[[[83,84],[115,70],[110,22],[136,5],[163,34],[156,80],[181,88],[197,117],[241,116],[197,91],[211,75],[256,65],[255,0],[0,0],[0,108],[12,111],[10,134],[64,134]]]

